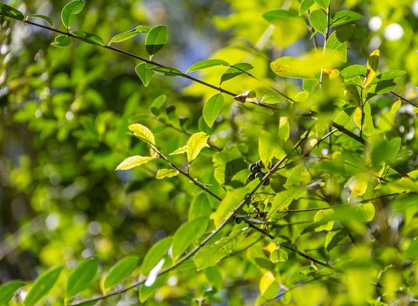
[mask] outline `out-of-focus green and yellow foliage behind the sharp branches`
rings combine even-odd
[[[52,17],[54,25],[63,30],[60,13],[67,1],[6,3],[25,15],[39,13]],[[251,74],[271,83],[273,59],[283,55],[300,56],[313,44],[310,33],[302,33],[301,40],[289,45],[285,38],[292,33],[274,31],[262,17],[274,8],[297,11],[299,3],[295,0],[87,1],[86,8],[77,16],[75,28],[109,41],[116,33],[137,25],[167,24],[169,42],[155,56],[156,61],[182,71],[206,58],[222,58],[230,63],[247,61],[255,67]],[[383,67],[408,72],[396,91],[403,92],[408,99],[415,98],[418,1],[332,1],[332,10],[341,9],[364,15],[356,23],[350,39],[348,63],[365,65],[370,52],[379,48]],[[144,87],[134,72],[139,62],[132,58],[79,41],[72,42],[68,48],[55,48],[50,46],[54,33],[4,17],[0,21],[1,282],[17,278],[33,280],[50,266],[67,262],[69,267],[74,267],[80,259],[89,256],[98,256],[104,270],[127,254],[144,258],[151,245],[172,235],[187,220],[187,210],[199,188],[183,177],[156,180],[155,173],[163,168],[163,163],[149,163],[128,172],[114,170],[127,156],[148,155],[144,143],[127,135],[127,126],[139,119],[152,128],[158,142],[164,144],[164,152],[185,145],[187,134],[155,118],[138,116],[149,114],[150,104],[162,93],[167,95],[164,107],[176,107],[175,118],[171,121],[166,118],[167,122],[180,129],[178,118],[189,118],[188,132],[208,131],[212,143],[219,147],[234,145],[252,161],[258,159],[261,130],[269,120],[278,119],[268,118],[263,109],[225,96],[222,115],[210,130],[201,120],[201,109],[215,90],[185,79],[161,76]],[[397,39],[387,31],[393,24],[401,27],[402,35]],[[147,57],[144,38],[145,35],[137,35],[118,47]],[[318,35],[318,43],[322,45],[320,39]],[[224,67],[214,67],[192,75],[218,84],[224,70]],[[298,81],[275,81],[291,97],[302,90]],[[268,92],[263,83],[246,76],[225,83],[224,88],[233,92],[254,89],[260,96]],[[381,98],[373,107],[382,109],[394,102],[388,99]],[[386,113],[385,120],[389,123],[385,123],[384,129],[405,139],[408,150],[403,150],[403,163],[414,168],[418,144],[408,140],[415,137],[416,123],[408,106],[405,109],[396,115]],[[137,117],[132,118],[134,115]],[[289,116],[291,134],[296,135],[304,122]],[[411,129],[395,128],[401,125]],[[355,150],[357,144],[352,145]],[[212,167],[208,166],[214,152],[206,148],[203,153],[194,164],[193,175],[210,184],[212,191],[222,193]],[[181,157],[173,160],[183,161]],[[212,207],[216,204],[212,203]],[[417,211],[414,205],[408,206],[411,216]],[[292,218],[297,222],[304,217]],[[408,232],[416,233],[418,223],[408,224]],[[290,230],[285,231],[292,234]],[[307,241],[305,245],[318,248],[316,241]],[[393,248],[387,249],[392,251]],[[367,252],[367,249],[357,250],[356,256],[364,257]],[[385,256],[389,255],[382,254]],[[256,276],[260,272],[254,264],[240,261],[238,257],[228,260],[222,265],[229,287],[222,291],[222,305],[250,303],[258,294]],[[165,305],[189,305],[189,298],[203,294],[206,286],[203,273],[196,273],[192,264],[185,264],[178,271],[169,284],[157,291],[157,302],[167,297]],[[182,273],[187,277],[182,277]],[[367,281],[364,273],[355,273],[347,275],[348,282],[350,277],[355,282]],[[178,282],[181,286],[176,286]],[[89,289],[91,292],[86,296],[97,292],[98,286]],[[56,294],[49,295],[45,305],[62,305],[63,289],[56,286],[54,291]],[[326,288],[311,284],[297,291],[300,291],[298,296],[303,296],[303,291],[316,292],[320,300]],[[351,292],[351,296],[356,294]],[[138,303],[137,296],[126,293],[102,305],[116,305],[119,298],[118,305]],[[148,305],[157,303],[155,300],[149,300]]]

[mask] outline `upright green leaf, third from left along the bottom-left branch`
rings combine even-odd
[[[90,257],[80,262],[77,268],[72,271],[70,277],[68,277],[65,296],[73,298],[84,291],[98,273],[98,268],[99,261],[95,257]]]

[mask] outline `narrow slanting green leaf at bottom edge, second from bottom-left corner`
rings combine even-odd
[[[58,268],[52,268],[51,270],[40,275],[38,279],[32,284],[31,289],[24,299],[24,305],[35,305],[41,298],[46,296],[49,290],[54,287],[54,284],[58,280],[62,270],[63,267],[59,266]]]

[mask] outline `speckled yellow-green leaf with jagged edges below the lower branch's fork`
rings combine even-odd
[[[242,239],[244,239],[244,232],[247,229],[248,227],[245,227],[243,230],[231,232],[229,236],[201,248],[193,258],[197,271],[201,271],[210,266],[216,266],[222,258],[231,254],[240,245]]]

